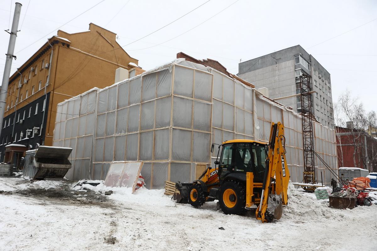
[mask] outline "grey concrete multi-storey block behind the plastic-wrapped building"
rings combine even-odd
[[[300,92],[300,75],[311,76],[313,113],[319,123],[334,128],[330,73],[300,45],[254,58],[238,65],[239,77],[258,88],[268,88],[271,99]],[[301,112],[300,96],[279,100]]]

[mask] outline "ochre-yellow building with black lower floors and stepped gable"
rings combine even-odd
[[[58,30],[9,79],[1,160],[12,143],[51,146],[57,104],[113,84],[117,68],[128,70],[129,76],[143,72],[116,42],[116,33],[93,23],[86,32]]]

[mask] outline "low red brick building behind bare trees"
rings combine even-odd
[[[365,131],[335,126],[339,167],[377,172],[377,139]]]

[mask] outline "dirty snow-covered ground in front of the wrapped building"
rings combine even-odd
[[[274,223],[176,204],[163,190],[0,178],[0,250],[376,250],[377,206],[339,210],[290,189]],[[377,193],[377,192],[376,192]],[[224,230],[219,229],[224,228]]]

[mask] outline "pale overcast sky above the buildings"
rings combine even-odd
[[[16,40],[17,60],[13,61],[11,75],[46,43],[47,38],[56,35],[58,27],[96,3],[101,2],[59,29],[69,33],[82,32],[88,30],[92,22],[117,33],[118,43],[123,46],[207,1],[19,0],[23,5],[18,28],[21,31]],[[9,28],[9,15],[12,15],[12,19],[15,2],[1,1],[1,30]],[[205,21],[213,15],[213,18]],[[353,96],[364,103],[367,111],[376,111],[376,30],[377,1],[373,0],[210,0],[178,21],[124,49],[139,60],[144,70],[172,61],[176,53],[182,51],[198,59],[218,60],[228,71],[236,74],[240,60],[247,61],[300,44],[331,74],[334,102],[348,88]],[[32,44],[40,38],[43,39]],[[167,40],[170,41],[155,46]],[[8,42],[9,34],[0,32],[1,76]],[[29,47],[18,52],[26,46]]]

